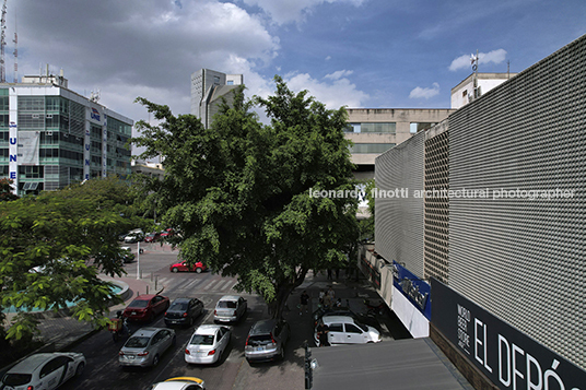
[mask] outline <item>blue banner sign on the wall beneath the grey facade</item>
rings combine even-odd
[[[415,276],[397,261],[392,261],[392,285],[431,321],[432,305],[429,283]]]

